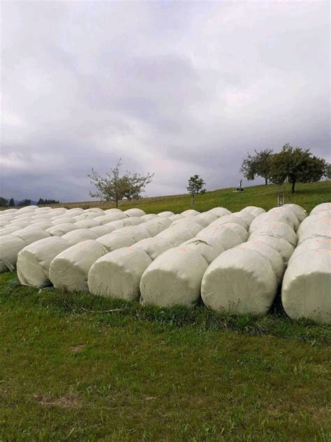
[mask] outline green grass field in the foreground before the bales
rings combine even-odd
[[[0,284],[1,441],[330,441],[330,327]]]

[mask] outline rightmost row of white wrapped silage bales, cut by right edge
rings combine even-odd
[[[298,245],[290,257],[281,301],[292,319],[331,324],[331,204],[316,206],[297,230]]]

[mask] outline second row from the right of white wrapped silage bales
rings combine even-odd
[[[204,304],[228,313],[267,313],[295,249],[295,230],[305,217],[304,209],[293,204],[256,216],[248,241],[223,252],[205,272]]]

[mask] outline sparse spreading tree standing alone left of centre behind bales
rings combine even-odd
[[[91,175],[88,175],[91,179],[91,184],[96,187],[96,192],[89,192],[91,197],[100,198],[103,201],[115,201],[116,207],[118,207],[119,201],[122,199],[140,199],[142,192],[145,192],[147,184],[152,182],[154,173],[147,173],[146,176],[140,176],[138,173],[126,171],[125,175],[119,175],[119,168],[122,165],[121,159],[117,162],[114,169],[110,169],[109,173],[106,173],[105,178],[98,175],[94,169],[92,169]]]

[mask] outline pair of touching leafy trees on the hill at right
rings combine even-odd
[[[277,185],[287,182],[292,185],[291,192],[295,192],[296,183],[314,183],[323,177],[330,178],[330,164],[309,149],[293,148],[286,143],[278,153],[273,153],[272,149],[254,152],[243,159],[240,168],[247,180],[260,176],[266,185],[268,182]]]

